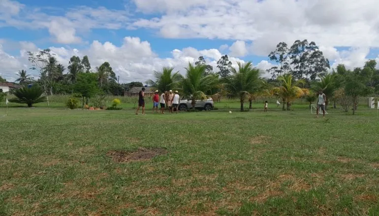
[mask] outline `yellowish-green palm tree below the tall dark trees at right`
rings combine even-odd
[[[290,110],[291,101],[308,93],[308,89],[298,87],[300,84],[304,84],[304,80],[293,81],[291,74],[279,76],[278,81],[282,85],[275,87],[274,91],[283,100],[283,110],[285,110],[284,103],[287,103],[287,110]]]

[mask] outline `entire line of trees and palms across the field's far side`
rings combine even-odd
[[[90,98],[95,98],[92,103],[100,106],[100,94],[123,95],[133,87],[144,86],[137,81],[119,83],[107,61],[92,70],[88,56],[72,56],[65,68],[49,49],[28,54],[39,79],[34,81],[21,70],[17,81],[41,86],[46,96],[77,93],[83,99],[83,106]],[[362,68],[353,70],[340,64],[330,72],[328,59],[315,42],[308,40],[296,40],[291,46],[280,42],[268,58],[275,64],[267,70],[271,79],[263,79],[252,62],[237,62],[237,67],[232,67],[228,55],[222,55],[215,68],[206,56],[199,56],[193,64],[189,63],[185,77],[173,67],[163,67],[155,72],[155,80],[147,83],[162,93],[179,90],[192,104],[211,95],[218,100],[221,97],[239,98],[241,110],[246,100],[251,108],[252,101],[259,96],[281,100],[284,110],[291,109],[291,103],[299,97],[311,105],[317,102],[317,92],[322,90],[326,95],[326,108],[333,103],[334,108],[338,104],[347,110],[351,103],[355,113],[359,97],[379,94],[379,70],[375,60],[368,60]],[[0,81],[5,80],[0,78]],[[347,103],[347,98],[351,102]]]

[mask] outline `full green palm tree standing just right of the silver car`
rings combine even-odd
[[[260,70],[253,68],[253,64],[249,61],[246,64],[238,62],[238,71],[232,68],[233,75],[227,80],[227,86],[233,95],[240,98],[241,111],[244,111],[245,99],[253,99],[251,93],[255,92],[261,85],[259,76]]]

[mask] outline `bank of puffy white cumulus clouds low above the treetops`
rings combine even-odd
[[[31,42],[19,42],[20,55],[15,56],[7,54],[1,43],[7,44],[8,42],[0,40],[0,76],[14,81],[17,71],[24,69],[37,77],[36,71],[29,70],[30,65],[26,51],[35,52],[41,49]],[[333,67],[340,63],[345,64],[347,68],[362,67],[369,54],[369,48],[351,48],[340,52],[331,47],[322,46],[320,49],[325,52],[327,57],[330,57]],[[72,55],[80,56],[81,58],[84,55],[88,55],[93,69],[104,61],[108,61],[115,73],[120,76],[121,82],[145,82],[149,79],[154,79],[154,71],[161,70],[163,66],[175,67],[175,70],[179,70],[185,75],[185,67],[188,66],[188,63],[194,63],[201,55],[217,72],[217,61],[224,54],[218,49],[197,50],[193,47],[188,47],[174,49],[171,52],[171,57],[161,58],[152,51],[148,41],[141,41],[138,37],[125,37],[123,44],[120,46],[116,46],[111,42],[101,43],[95,40],[85,49],[50,47],[50,50],[56,54],[58,62],[66,67]],[[237,67],[237,62],[246,63],[234,55],[229,55],[229,60],[232,62],[233,67]],[[377,60],[379,60],[379,56]],[[273,66],[267,60],[253,63],[255,67],[262,71],[266,71]],[[271,77],[267,73],[263,73],[262,76]]]

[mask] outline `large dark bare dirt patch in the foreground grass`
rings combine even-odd
[[[162,148],[139,148],[135,151],[109,151],[106,156],[114,162],[148,161],[159,155],[164,155],[167,150]]]

